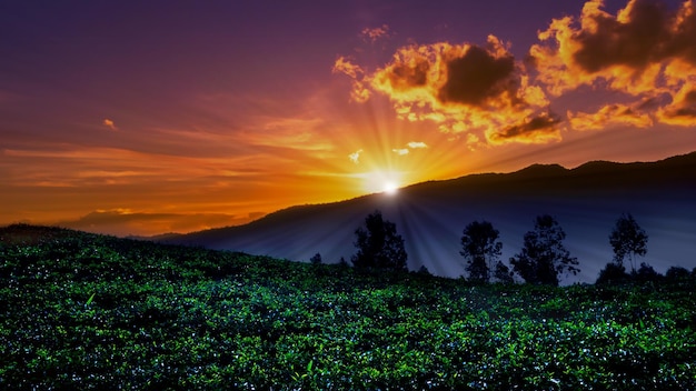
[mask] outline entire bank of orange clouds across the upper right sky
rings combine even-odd
[[[574,130],[693,126],[695,1],[670,9],[659,0],[629,0],[615,13],[603,0],[586,1],[578,16],[553,19],[539,31],[521,61],[510,43],[488,36],[484,44],[404,46],[375,69],[341,57],[334,70],[352,79],[352,101],[384,96],[398,119],[434,122],[470,148],[558,141],[563,121]],[[548,113],[549,97],[580,87],[622,94],[603,94],[609,100],[596,112]],[[617,97],[620,103],[610,100]]]

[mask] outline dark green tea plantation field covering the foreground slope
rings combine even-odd
[[[473,285],[10,225],[0,389],[696,390],[694,288]]]

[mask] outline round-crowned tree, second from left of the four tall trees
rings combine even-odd
[[[461,251],[466,260],[465,270],[469,279],[488,282],[494,263],[501,253],[503,243],[498,241],[500,232],[488,221],[474,221],[464,229]]]

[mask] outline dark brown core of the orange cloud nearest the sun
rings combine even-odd
[[[519,87],[511,54],[497,58],[484,48],[470,46],[461,57],[447,62],[447,82],[439,90],[443,102],[483,106],[490,98]]]

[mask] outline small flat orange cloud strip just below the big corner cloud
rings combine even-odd
[[[647,128],[653,124],[649,114],[626,104],[606,104],[593,113],[568,111],[568,121],[575,130],[600,130],[609,126]]]

